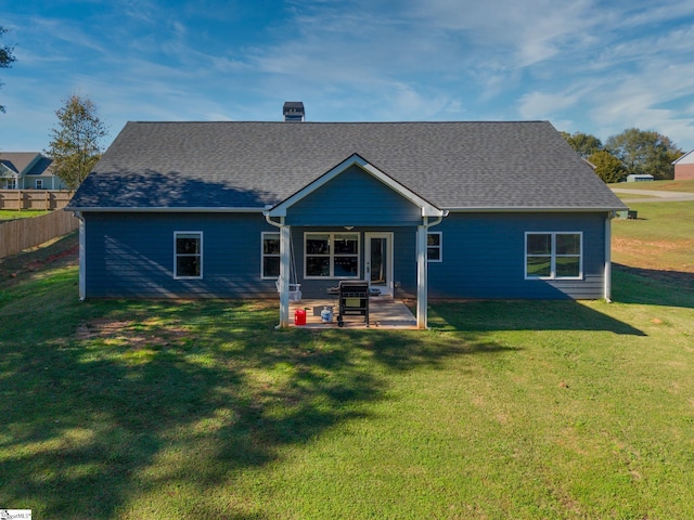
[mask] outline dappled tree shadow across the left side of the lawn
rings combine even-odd
[[[191,510],[190,497],[369,416],[389,399],[388,372],[505,350],[472,336],[278,333],[274,302],[78,303],[75,277],[16,287],[25,306],[52,302],[38,325],[21,301],[0,304],[12,321],[0,333],[2,498],[42,518],[112,518],[138,496],[157,497],[153,517],[258,518],[253,505]]]

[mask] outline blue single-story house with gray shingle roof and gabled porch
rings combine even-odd
[[[543,121],[128,122],[68,210],[80,298],[609,299],[627,209]]]

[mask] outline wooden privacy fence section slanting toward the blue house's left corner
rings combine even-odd
[[[0,224],[0,258],[63,236],[79,226],[70,211],[59,209],[41,217],[11,220]]]

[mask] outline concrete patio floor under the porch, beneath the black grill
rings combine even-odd
[[[332,323],[321,321],[321,311],[325,307],[333,309]],[[297,309],[306,309],[306,325],[294,323]],[[339,328],[337,325],[338,311],[338,297],[292,302],[290,303],[290,326],[310,329]],[[368,328],[364,316],[361,315],[347,314],[344,316],[344,323],[343,328]],[[416,329],[416,318],[400,300],[394,300],[390,297],[372,297],[369,300],[369,328],[414,330]]]

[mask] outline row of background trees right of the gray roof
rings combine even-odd
[[[606,183],[621,182],[630,174],[673,179],[672,161],[683,155],[666,135],[638,128],[613,135],[605,144],[589,133],[561,134],[578,155],[594,166],[595,173]]]

